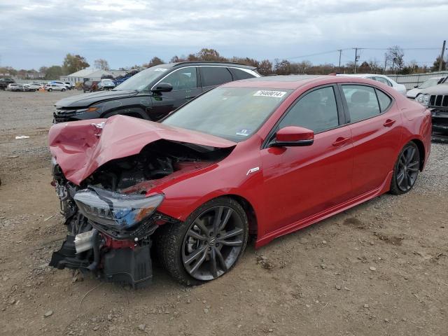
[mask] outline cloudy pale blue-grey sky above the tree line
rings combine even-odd
[[[346,49],[345,63],[360,47],[370,48],[361,61],[381,63],[391,45],[405,49],[405,61],[429,64],[448,39],[447,18],[447,0],[0,0],[0,65],[37,69],[71,52],[118,68],[203,47],[334,64],[334,50]]]

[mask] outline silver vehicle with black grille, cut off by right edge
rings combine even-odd
[[[415,100],[431,111],[434,139],[448,142],[448,76],[438,85],[421,90]]]

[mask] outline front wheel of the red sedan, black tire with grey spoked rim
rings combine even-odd
[[[219,221],[215,221],[215,218],[218,218],[216,213],[220,218]],[[210,214],[215,214],[215,217],[211,217]],[[206,219],[208,221],[205,221]],[[213,223],[211,223],[211,219],[213,219]],[[217,223],[216,227],[215,223]],[[199,233],[195,231],[199,227],[211,229],[207,231],[209,232],[207,239],[192,238],[194,236],[191,235],[191,232],[202,238],[206,237],[201,235],[201,230]],[[214,228],[218,229],[215,231]],[[226,232],[224,229],[227,228],[232,228],[232,230]],[[242,229],[241,232],[239,232],[240,229]],[[215,232],[211,232],[212,230]],[[238,235],[235,232],[238,232]],[[226,237],[223,237],[224,235]],[[192,239],[195,242],[192,243]],[[244,253],[247,239],[248,221],[244,209],[230,197],[218,197],[202,204],[188,216],[185,222],[167,223],[158,228],[155,232],[155,251],[162,267],[174,279],[186,286],[194,286],[229,272]],[[193,250],[195,244],[197,247]],[[192,249],[189,255],[185,254],[186,248]],[[196,257],[192,257],[192,255],[196,255]],[[185,258],[193,261],[184,262]],[[199,264],[199,266],[190,267],[193,264]],[[188,268],[190,269],[188,270]],[[193,268],[196,269],[195,272],[193,272]]]

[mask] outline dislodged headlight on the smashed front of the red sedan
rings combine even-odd
[[[80,212],[90,221],[116,230],[126,230],[151,216],[162,203],[164,195],[123,195],[89,187],[79,190],[73,199]]]

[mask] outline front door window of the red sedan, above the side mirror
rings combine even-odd
[[[300,126],[318,133],[338,125],[335,92],[332,87],[323,87],[300,98],[281,120],[279,128]]]

